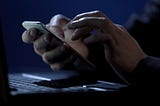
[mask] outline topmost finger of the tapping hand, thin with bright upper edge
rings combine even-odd
[[[79,20],[80,18],[83,18],[83,17],[104,17],[104,16],[105,15],[101,11],[96,10],[96,11],[78,14],[71,21]]]

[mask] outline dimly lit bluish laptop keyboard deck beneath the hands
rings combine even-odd
[[[88,92],[88,91],[115,91],[126,85],[106,81],[85,81],[80,79],[44,81],[23,77],[22,74],[9,74],[11,90],[20,93],[46,93],[46,92]]]

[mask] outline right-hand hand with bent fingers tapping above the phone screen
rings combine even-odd
[[[68,27],[74,30],[72,40],[84,38],[87,44],[103,43],[107,61],[119,70],[132,72],[138,62],[146,57],[126,29],[114,24],[100,11],[79,14],[69,22]],[[87,33],[91,36],[85,36]]]

